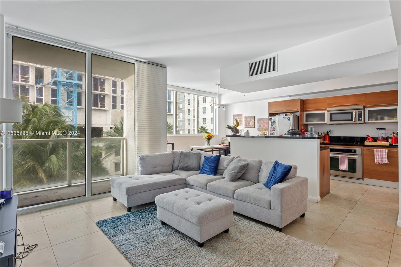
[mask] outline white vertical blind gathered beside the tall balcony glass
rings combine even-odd
[[[162,147],[162,67],[135,63],[135,157]],[[165,138],[164,138],[165,139]],[[135,165],[138,174],[138,164]]]

